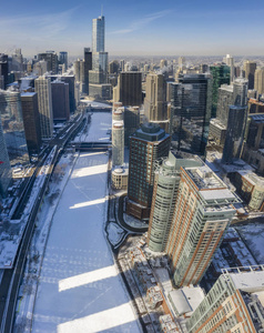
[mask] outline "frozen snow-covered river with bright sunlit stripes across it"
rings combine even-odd
[[[92,115],[90,135],[106,135],[106,117]],[[103,234],[106,180],[108,155],[80,155],[52,221],[32,332],[140,332]]]

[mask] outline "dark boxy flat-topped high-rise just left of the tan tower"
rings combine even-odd
[[[142,75],[141,72],[121,72],[116,85],[119,100],[123,105],[142,104]]]

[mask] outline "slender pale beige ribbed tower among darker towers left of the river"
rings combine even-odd
[[[34,81],[34,89],[38,93],[41,138],[50,139],[53,133],[51,79],[44,75],[38,78]]]

